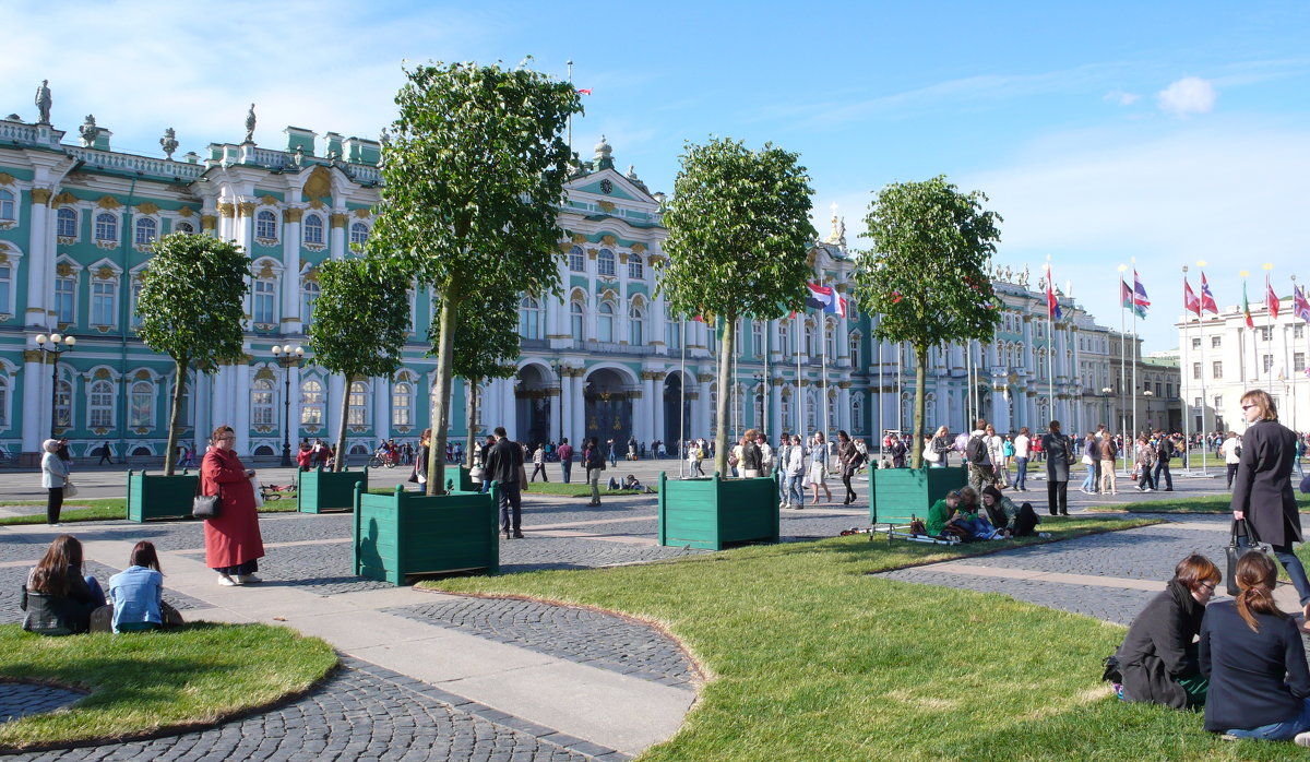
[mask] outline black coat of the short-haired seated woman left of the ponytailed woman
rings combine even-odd
[[[1200,672],[1192,639],[1201,631],[1205,608],[1187,585],[1169,580],[1165,592],[1146,604],[1133,619],[1119,647],[1119,672],[1124,676],[1124,699],[1187,707],[1187,691],[1178,681]]]

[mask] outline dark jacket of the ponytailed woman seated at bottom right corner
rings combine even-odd
[[[1243,445],[1244,446],[1244,445]],[[1292,619],[1256,614],[1252,632],[1237,601],[1210,604],[1201,623],[1201,674],[1210,680],[1205,729],[1222,733],[1290,720],[1310,697],[1306,651]]]

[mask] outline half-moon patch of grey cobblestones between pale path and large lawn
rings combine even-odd
[[[662,685],[690,689],[696,680],[690,660],[676,643],[645,625],[590,609],[516,598],[456,598],[386,613]]]

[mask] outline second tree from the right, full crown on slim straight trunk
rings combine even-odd
[[[798,156],[766,143],[688,144],[664,224],[668,262],[660,291],[675,314],[705,316],[723,331],[718,368],[714,470],[727,473],[728,399],[736,321],[773,319],[804,306],[810,177]]]

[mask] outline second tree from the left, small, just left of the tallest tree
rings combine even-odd
[[[341,401],[334,471],[346,465],[350,385],[358,378],[390,377],[401,367],[409,333],[406,281],[375,259],[329,259],[318,266],[318,299],[309,326],[314,363],[346,377]]]

